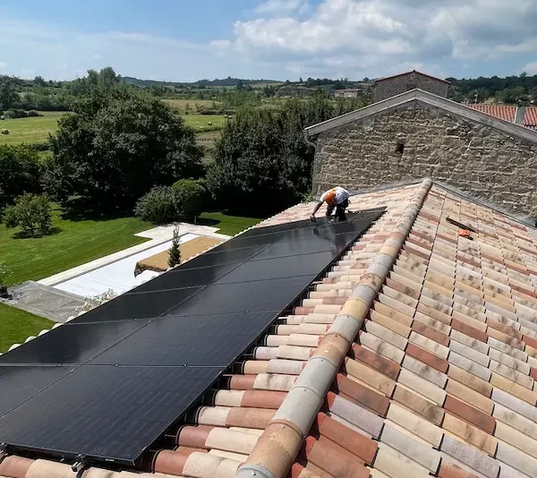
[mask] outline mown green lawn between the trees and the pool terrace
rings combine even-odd
[[[90,220],[62,218],[54,210],[53,234],[15,239],[18,229],[0,225],[0,257],[13,269],[10,284],[39,280],[147,241],[135,233],[152,226],[138,218]],[[1,334],[0,334],[1,335]]]

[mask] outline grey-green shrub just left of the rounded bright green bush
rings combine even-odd
[[[136,216],[153,224],[168,224],[179,217],[176,208],[177,193],[171,186],[157,186],[136,203]]]

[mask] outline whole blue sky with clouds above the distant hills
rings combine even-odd
[[[0,0],[0,74],[537,74],[537,0]]]

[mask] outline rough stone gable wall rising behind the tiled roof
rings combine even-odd
[[[410,105],[320,133],[313,192],[430,176],[537,218],[537,133],[535,142],[519,140],[440,108]]]

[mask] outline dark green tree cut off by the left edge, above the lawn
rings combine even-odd
[[[40,191],[37,152],[29,145],[0,145],[0,195]]]

